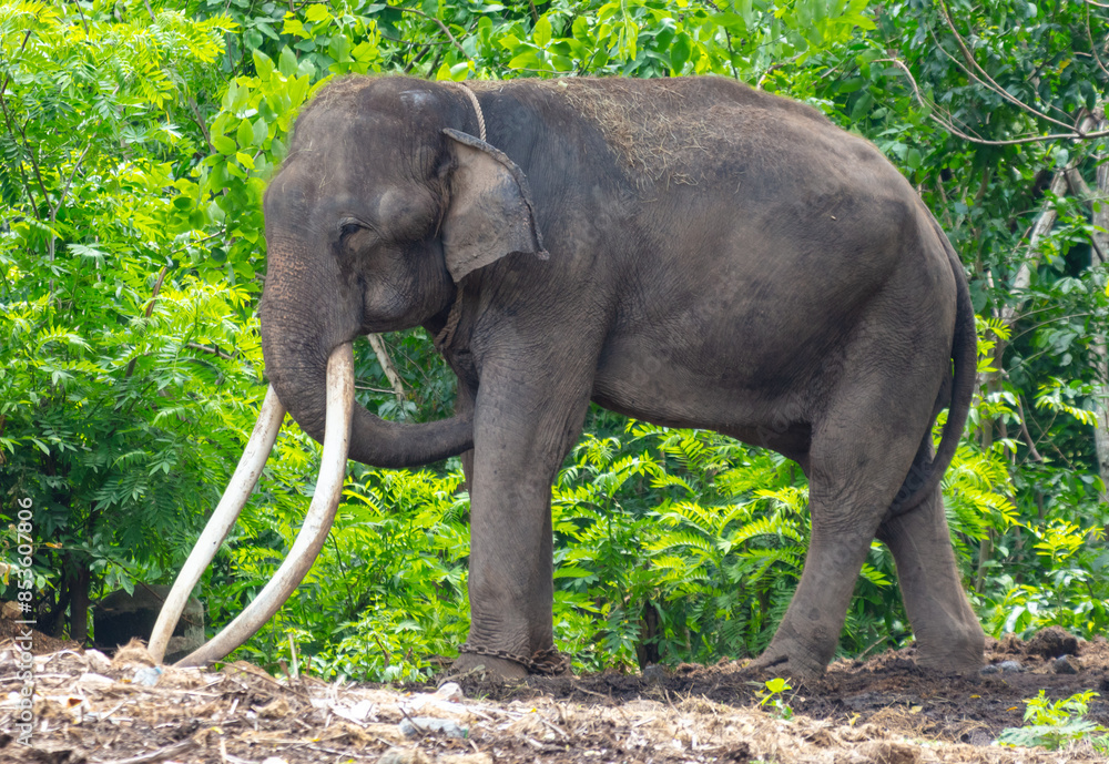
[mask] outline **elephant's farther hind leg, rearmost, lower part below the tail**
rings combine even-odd
[[[883,521],[877,536],[897,564],[917,664],[953,673],[980,668],[986,638],[959,582],[939,489]]]

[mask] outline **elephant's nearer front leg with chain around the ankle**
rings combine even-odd
[[[470,488],[470,632],[454,671],[523,676],[553,645],[551,483],[581,431],[589,380],[482,377]]]

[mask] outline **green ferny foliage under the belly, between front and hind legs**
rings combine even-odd
[[[800,470],[712,432],[628,432],[587,435],[554,486],[556,581],[578,598],[556,610],[603,620],[572,652],[600,669],[761,649],[801,574]]]

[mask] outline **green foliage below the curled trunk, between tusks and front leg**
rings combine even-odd
[[[311,462],[304,467],[313,469]],[[460,483],[457,471],[438,477],[363,470],[349,480],[312,572],[240,653],[273,664],[292,635],[316,674],[388,682],[437,670],[431,659],[452,655],[468,624],[468,502],[458,493]],[[243,595],[260,591],[281,564],[293,544],[301,498],[274,497],[272,510],[244,518],[244,536],[254,541],[235,546],[235,581],[211,603],[217,615],[234,617]]]

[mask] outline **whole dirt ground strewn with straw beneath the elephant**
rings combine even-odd
[[[246,663],[220,672],[152,666],[140,646],[109,661],[60,650],[34,659],[34,731],[19,742],[22,680],[0,642],[0,763],[491,764],[507,762],[1095,762],[994,744],[1020,726],[1024,699],[1095,690],[1109,726],[1109,642],[1042,633],[990,641],[994,666],[968,676],[916,668],[912,649],[841,661],[786,693],[794,716],[757,707],[742,662],[526,682],[480,675],[394,689],[276,679]],[[1070,638],[1072,640],[1072,638]],[[1077,658],[1056,661],[1060,651]],[[1016,661],[1019,666],[1008,663]],[[1077,673],[1059,673],[1059,670]],[[438,727],[438,729],[435,729]]]

